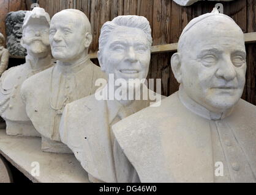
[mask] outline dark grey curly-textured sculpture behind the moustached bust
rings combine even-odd
[[[27,11],[9,12],[6,16],[7,49],[10,55],[25,56],[26,49],[21,45],[22,25]]]

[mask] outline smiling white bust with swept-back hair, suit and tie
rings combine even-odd
[[[119,85],[114,85],[111,79],[122,80],[121,88],[127,95],[132,93],[129,89],[137,91],[143,87],[146,95],[154,93],[143,82],[129,83],[129,79],[146,78],[151,44],[151,27],[143,16],[117,16],[105,23],[100,31],[98,59],[108,74],[107,85],[64,109],[59,128],[61,141],[73,151],[91,182],[139,182],[136,171],[116,143],[111,126],[148,107],[152,99],[116,95],[112,99],[111,88],[116,91]],[[99,99],[99,94],[104,98]],[[160,94],[155,95],[155,100],[161,99]]]

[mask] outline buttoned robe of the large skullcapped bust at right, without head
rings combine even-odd
[[[256,181],[256,107],[242,99],[218,116],[180,89],[112,128],[141,182]]]

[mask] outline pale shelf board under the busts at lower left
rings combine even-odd
[[[41,138],[15,137],[0,130],[0,154],[32,182],[88,183],[88,174],[73,154],[41,151]],[[39,162],[40,176],[32,176],[33,162]]]

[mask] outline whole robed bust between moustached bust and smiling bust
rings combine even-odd
[[[62,111],[67,103],[93,94],[95,80],[105,74],[88,56],[92,34],[85,13],[75,9],[56,13],[49,38],[57,64],[26,80],[21,95],[32,124],[42,135],[42,150],[70,153],[59,137]]]

